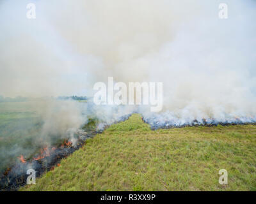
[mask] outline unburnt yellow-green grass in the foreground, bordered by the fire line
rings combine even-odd
[[[218,171],[228,171],[228,185]],[[22,191],[255,191],[256,126],[113,124]]]

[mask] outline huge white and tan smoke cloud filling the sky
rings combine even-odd
[[[31,2],[36,4],[33,20],[26,18]],[[0,92],[92,96],[93,84],[108,77],[116,82],[163,82],[163,112],[172,118],[253,118],[255,1],[225,1],[228,18],[222,20],[220,3],[2,1]],[[147,110],[141,112],[152,117]],[[68,117],[72,126],[80,124],[79,114],[78,122],[73,114]],[[52,124],[45,124],[47,131],[56,131]],[[62,124],[58,128],[62,133]]]

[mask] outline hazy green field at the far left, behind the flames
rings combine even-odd
[[[34,101],[0,103],[0,172],[15,164],[20,154],[29,157],[38,150],[32,145],[42,127],[36,105]]]

